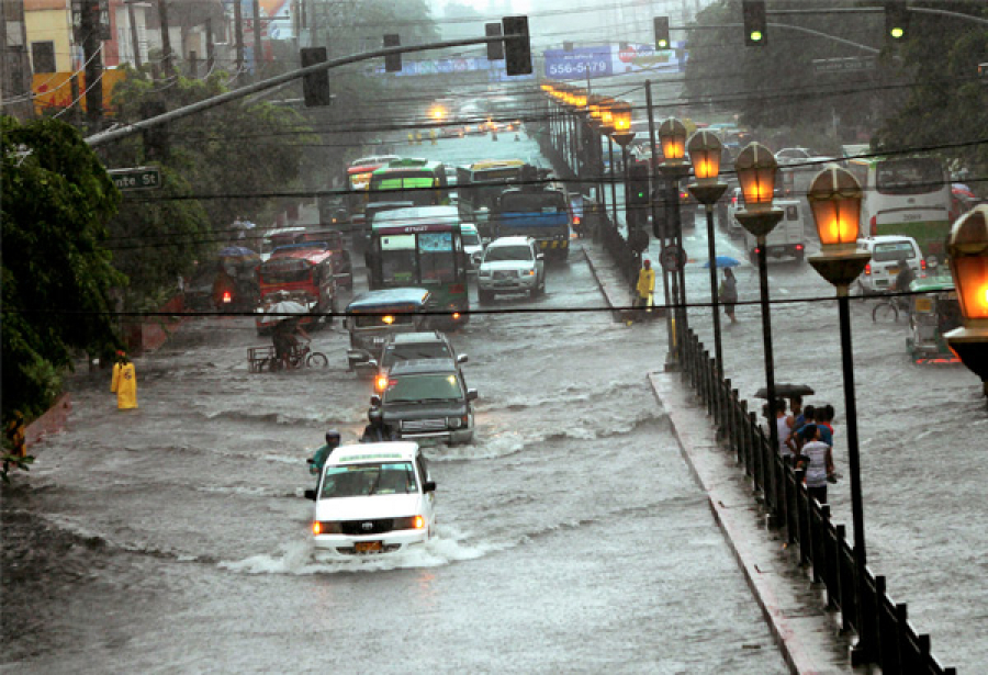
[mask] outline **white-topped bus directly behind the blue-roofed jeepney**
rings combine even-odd
[[[439,328],[467,324],[470,297],[460,215],[456,206],[407,206],[374,217],[367,252],[372,291],[416,286],[431,293],[430,311]]]

